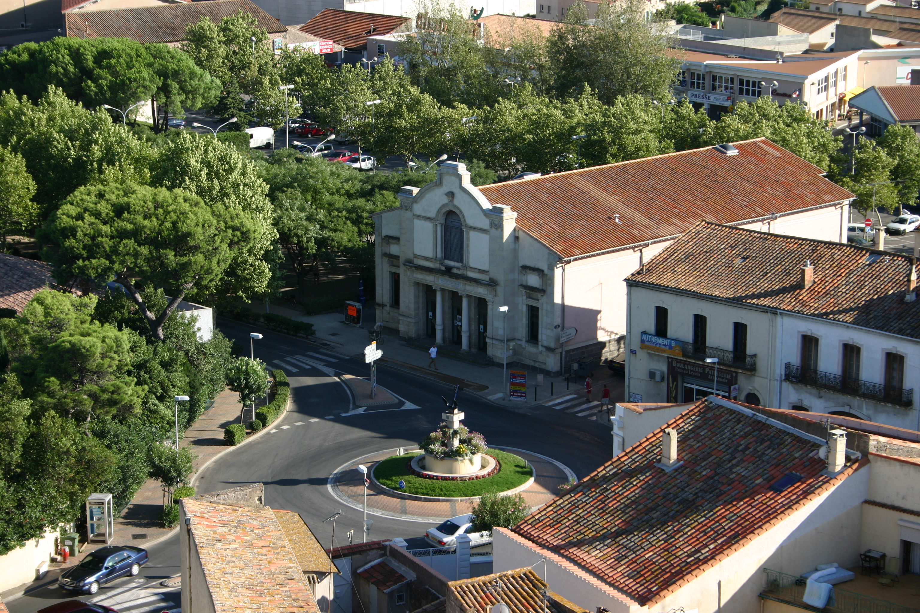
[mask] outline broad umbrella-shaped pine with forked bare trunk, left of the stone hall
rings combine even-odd
[[[82,187],[55,211],[40,236],[59,282],[114,279],[163,340],[163,324],[194,288],[213,289],[234,250],[259,234],[251,219],[218,204],[206,206],[184,190],[132,184]],[[151,311],[138,287],[170,292],[162,312]]]

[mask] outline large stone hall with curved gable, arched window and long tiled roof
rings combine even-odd
[[[765,139],[485,187],[447,162],[374,214],[377,321],[501,362],[507,318],[508,361],[560,372],[623,351],[623,278],[696,221],[839,241],[852,198]]]

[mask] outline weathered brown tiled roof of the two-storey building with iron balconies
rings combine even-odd
[[[701,221],[627,283],[683,289],[894,335],[920,338],[920,301],[905,302],[913,258],[852,244]],[[801,267],[814,284],[799,288]]]

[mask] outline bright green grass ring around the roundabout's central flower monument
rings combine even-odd
[[[533,475],[533,469],[527,462],[507,451],[492,449],[486,452],[499,460],[501,468],[491,477],[474,479],[473,481],[437,481],[423,479],[408,471],[408,462],[420,455],[419,451],[401,456],[390,456],[380,461],[374,467],[374,478],[381,485],[420,496],[440,496],[444,498],[464,498],[466,496],[481,496],[482,494],[507,492],[518,485],[523,485]],[[406,482],[406,489],[399,489],[399,480]]]

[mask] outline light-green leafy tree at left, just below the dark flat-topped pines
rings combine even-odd
[[[49,87],[37,104],[0,96],[0,145],[22,155],[47,218],[77,187],[149,179],[149,148],[113,123]]]

